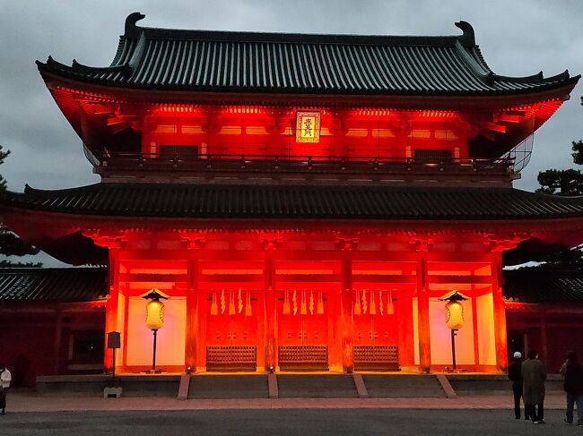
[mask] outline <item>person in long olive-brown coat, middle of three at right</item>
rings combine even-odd
[[[538,359],[535,350],[528,352],[528,359],[522,363],[522,395],[525,400],[525,414],[533,423],[544,422],[544,380],[546,368]]]

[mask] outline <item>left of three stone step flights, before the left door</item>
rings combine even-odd
[[[193,375],[188,399],[268,398],[267,376],[263,374]]]

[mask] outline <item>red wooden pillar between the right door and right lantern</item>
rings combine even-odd
[[[431,371],[431,330],[429,289],[427,286],[428,242],[415,242],[417,251],[417,324],[419,332],[419,363],[423,372]]]

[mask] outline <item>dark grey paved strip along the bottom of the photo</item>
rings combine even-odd
[[[19,413],[0,416],[0,434],[21,435],[581,435],[546,414],[546,425],[515,420],[509,410],[288,409]]]

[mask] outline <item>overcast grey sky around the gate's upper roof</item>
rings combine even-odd
[[[146,27],[379,35],[458,35],[461,18],[495,73],[583,73],[583,0],[0,0],[0,144],[12,150],[0,173],[9,189],[99,181],[34,61],[109,65],[126,15],[136,11]],[[579,83],[535,133],[516,187],[532,191],[538,171],[571,167],[570,141],[583,139],[581,94]]]

